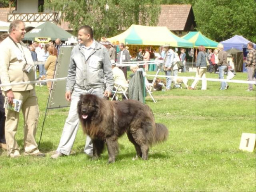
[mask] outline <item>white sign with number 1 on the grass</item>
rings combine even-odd
[[[256,134],[242,133],[239,149],[243,151],[253,152],[256,142]]]

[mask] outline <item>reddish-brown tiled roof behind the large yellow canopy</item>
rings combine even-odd
[[[166,26],[170,31],[190,31],[187,20],[194,17],[192,5],[160,5],[161,13],[157,26]],[[194,22],[194,18],[192,18]],[[195,25],[195,23],[194,23]],[[186,29],[188,27],[188,29]]]

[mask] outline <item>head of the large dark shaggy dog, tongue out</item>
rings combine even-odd
[[[81,95],[77,106],[80,119],[91,119],[100,110],[100,98],[96,95]]]

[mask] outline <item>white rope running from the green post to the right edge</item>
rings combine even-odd
[[[155,75],[147,75],[147,74],[145,76],[155,77]],[[231,80],[231,79],[215,79],[215,78],[184,77],[184,76],[166,76],[166,75],[158,75],[157,77],[186,78],[186,79],[197,79],[197,80],[216,81],[216,82],[256,84],[256,81]]]

